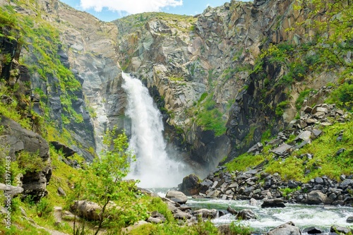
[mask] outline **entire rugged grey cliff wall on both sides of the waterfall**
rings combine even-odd
[[[16,3],[16,12],[36,14]],[[55,76],[48,75],[44,83],[34,73],[33,89],[46,91],[51,118],[73,131],[88,159],[92,155],[85,149],[99,153],[108,126],[124,126],[121,70],[143,80],[162,111],[167,139],[206,170],[221,159],[237,157],[266,131],[275,133],[292,121],[297,113],[294,102],[302,90],[321,88],[336,79],[325,72],[313,76],[307,70],[306,84],[301,79],[283,82],[292,68],[268,56],[273,44],[292,48],[315,35],[300,25],[309,16],[305,9],[296,9],[294,0],[231,1],[195,17],[143,13],[113,23],[56,0],[35,4],[42,20],[59,30],[56,50],[50,53],[59,56],[81,84],[69,93],[83,121],[61,120],[61,114],[69,112],[62,105],[62,88],[53,85],[58,82]],[[25,51],[31,63],[38,63],[30,47]]]

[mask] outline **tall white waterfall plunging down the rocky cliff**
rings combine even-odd
[[[131,119],[129,147],[137,159],[131,164],[128,178],[139,179],[139,186],[144,188],[177,186],[187,174],[186,167],[167,156],[160,111],[140,80],[128,73],[121,75],[124,78],[122,88],[128,98],[125,114]]]

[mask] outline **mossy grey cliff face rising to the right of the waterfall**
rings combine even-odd
[[[167,123],[178,128],[192,159],[213,168],[294,118],[304,85],[280,83],[288,66],[260,56],[270,44],[311,40],[313,30],[299,26],[307,13],[294,5],[291,0],[231,1],[194,18],[140,14],[114,22],[121,67],[157,91]],[[330,81],[323,73],[309,87]],[[286,112],[276,114],[285,100]]]

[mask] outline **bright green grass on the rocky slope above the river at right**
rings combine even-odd
[[[296,180],[307,182],[317,176],[328,176],[331,179],[340,180],[340,175],[350,175],[353,172],[353,121],[347,123],[335,123],[323,129],[319,138],[313,140],[311,144],[305,145],[300,150],[295,151],[282,161],[274,159],[273,153],[269,152],[270,146],[265,146],[260,155],[243,154],[232,159],[225,164],[228,171],[245,171],[249,167],[268,159],[264,171],[274,174],[278,173],[284,180]],[[343,140],[336,141],[337,133],[343,131]],[[337,150],[345,148],[345,152],[336,155]],[[300,158],[301,155],[309,153],[312,159]],[[306,169],[311,172],[304,175]]]

